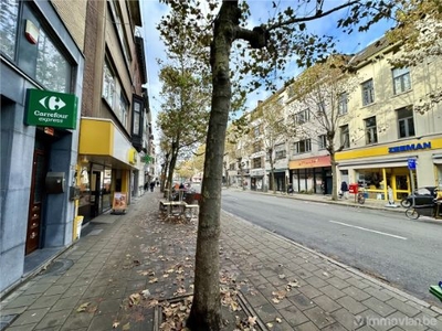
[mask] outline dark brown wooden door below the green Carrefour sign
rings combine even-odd
[[[40,149],[38,145],[38,141],[35,141],[31,195],[29,199],[25,255],[40,247],[40,236],[42,231],[41,223],[43,214],[44,179],[46,174],[46,154],[44,149]]]

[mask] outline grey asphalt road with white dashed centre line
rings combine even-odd
[[[222,209],[425,301],[442,280],[442,225],[403,213],[224,190]]]

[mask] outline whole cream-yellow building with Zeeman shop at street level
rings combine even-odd
[[[336,157],[338,175],[366,186],[370,199],[387,200],[390,186],[400,200],[411,191],[413,177],[417,186],[442,186],[442,104],[417,111],[442,87],[442,60],[394,68],[388,61],[401,56],[397,51],[382,38],[349,63],[360,85],[348,99],[348,111],[356,116],[340,127],[346,148]],[[415,170],[410,171],[409,160]]]

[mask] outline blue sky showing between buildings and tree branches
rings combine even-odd
[[[160,84],[158,81],[159,67],[157,65],[157,58],[166,60],[164,45],[159,39],[159,33],[156,31],[156,25],[159,22],[161,15],[167,13],[168,8],[164,3],[159,3],[158,0],[139,0],[143,14],[143,36],[145,39],[146,58],[147,58],[147,71],[148,71],[148,90],[150,97],[150,108],[154,115],[154,127],[156,126],[156,115],[160,110],[160,103],[156,99],[160,92]],[[221,2],[221,1],[220,1]],[[297,1],[278,1],[282,7],[287,4],[293,6]],[[335,7],[344,2],[343,0],[325,0],[325,7]],[[272,8],[272,1],[270,0],[249,0],[251,8],[250,17],[250,28],[260,25],[261,22],[265,22],[266,19],[272,15],[275,9]],[[308,29],[314,30],[316,33],[320,34],[336,34],[336,21],[340,13],[335,13],[326,19],[322,19],[320,22],[313,21],[308,23]],[[343,53],[357,53],[365,49],[367,45],[378,40],[383,35],[383,33],[391,28],[392,22],[383,22],[377,24],[370,29],[369,32],[364,33],[352,33],[351,35],[338,35],[340,36],[340,42],[338,44],[338,50]],[[301,70],[295,66],[291,66],[290,71],[293,71],[293,76],[296,76]],[[281,83],[282,84],[282,83]],[[282,86],[282,85],[281,85]],[[269,92],[257,92],[250,96],[248,100],[248,109],[253,109],[257,100],[265,99],[270,96]],[[155,135],[158,138],[158,135]]]

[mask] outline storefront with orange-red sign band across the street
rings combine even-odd
[[[294,192],[332,194],[332,166],[329,156],[292,160],[288,163]]]

